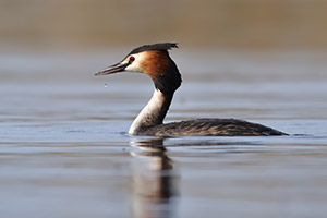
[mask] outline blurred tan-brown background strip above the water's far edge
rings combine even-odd
[[[178,41],[182,47],[326,49],[325,0],[1,0],[0,41],[78,49]]]

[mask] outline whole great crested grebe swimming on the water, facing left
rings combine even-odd
[[[177,44],[153,44],[133,49],[121,62],[95,75],[107,75],[123,71],[147,74],[155,84],[152,99],[132,123],[131,135],[183,136],[256,136],[287,135],[262,124],[235,119],[196,119],[164,124],[173,93],[182,83],[177,64],[168,50]]]

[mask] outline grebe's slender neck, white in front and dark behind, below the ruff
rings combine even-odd
[[[164,94],[159,89],[155,89],[152,99],[132,123],[129,134],[135,135],[146,128],[162,124],[167,111],[169,110],[172,97],[173,93]]]

